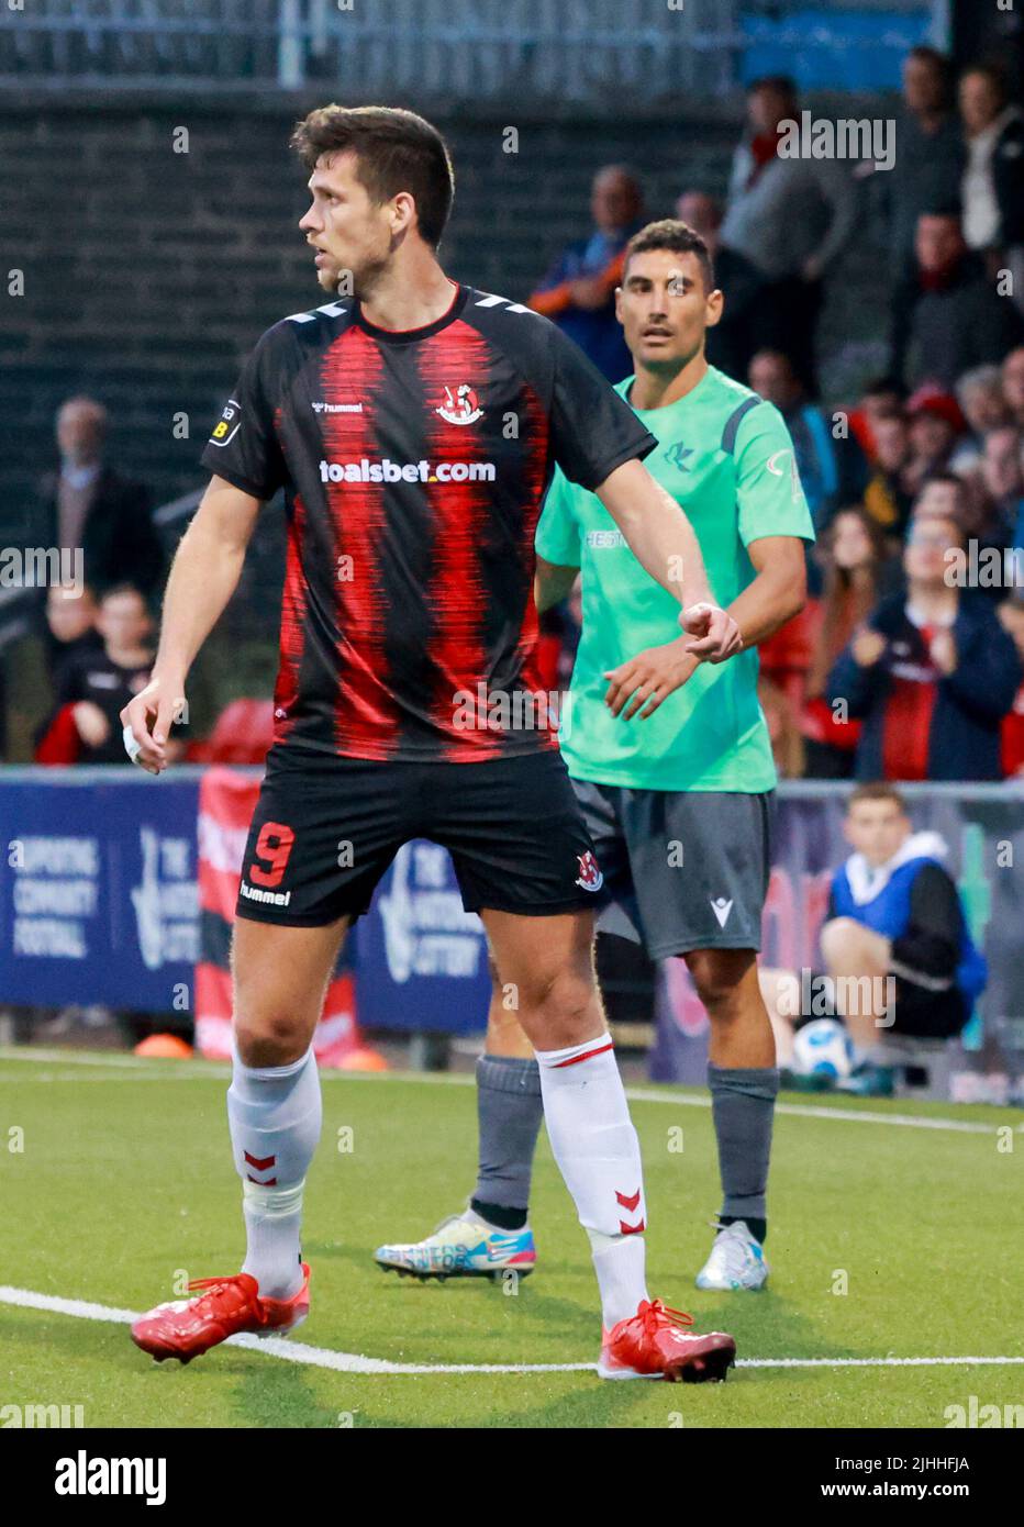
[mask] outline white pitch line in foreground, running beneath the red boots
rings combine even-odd
[[[34,1289],[0,1286],[0,1304],[14,1304],[26,1310],[46,1310],[50,1315],[70,1315],[82,1321],[104,1321],[111,1325],[130,1325],[137,1319],[134,1310],[118,1310],[107,1304],[90,1304],[87,1299],[63,1299],[53,1293],[37,1293]],[[304,1342],[282,1336],[229,1336],[226,1347],[244,1347],[261,1351],[282,1362],[298,1362],[311,1368],[333,1368],[336,1373],[378,1373],[391,1376],[418,1373],[586,1373],[592,1362],[391,1362],[386,1358],[363,1358],[353,1351],[334,1351],[330,1347],[307,1347]],[[977,1368],[1010,1367],[1024,1364],[1024,1358],[739,1358],[737,1368]]]

